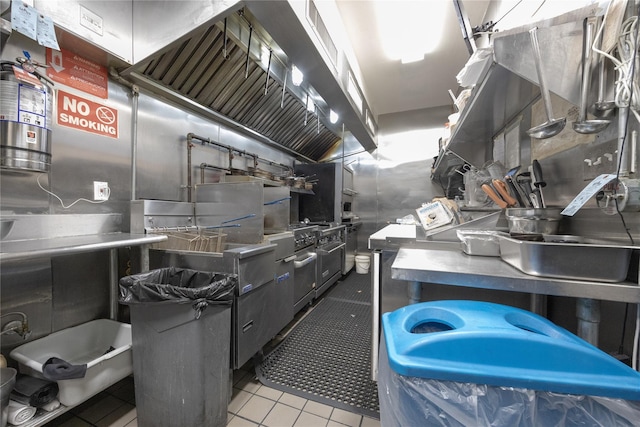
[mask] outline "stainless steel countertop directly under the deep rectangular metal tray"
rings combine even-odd
[[[459,250],[401,248],[391,271],[392,278],[411,282],[640,303],[640,286],[633,282],[530,276],[499,257],[470,256]]]

